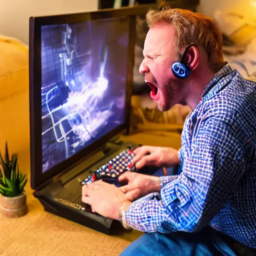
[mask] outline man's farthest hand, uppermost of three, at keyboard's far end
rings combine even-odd
[[[131,160],[136,169],[146,166],[169,166],[173,167],[180,164],[178,152],[171,147],[160,146],[140,146],[134,151],[135,156]]]

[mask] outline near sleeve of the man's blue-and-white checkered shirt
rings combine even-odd
[[[209,223],[245,169],[241,129],[222,119],[199,122],[182,172],[160,194],[148,194],[129,206],[130,226],[143,232],[192,232]]]

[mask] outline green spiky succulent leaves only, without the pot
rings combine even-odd
[[[6,142],[4,160],[0,152],[0,193],[7,197],[20,195],[24,191],[26,182],[26,174],[22,174],[18,169],[17,155],[12,154],[9,159]]]

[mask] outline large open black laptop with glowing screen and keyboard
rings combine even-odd
[[[116,220],[91,212],[81,188],[101,174],[118,186],[131,170],[137,145],[119,134],[129,127],[136,15],[147,9],[29,19],[33,195],[45,211],[106,234]]]

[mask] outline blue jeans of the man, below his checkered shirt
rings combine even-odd
[[[218,256],[236,254],[208,228],[198,232],[145,233],[126,247],[120,256]]]

